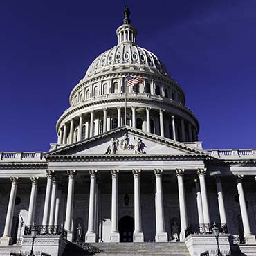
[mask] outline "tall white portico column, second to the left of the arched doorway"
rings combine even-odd
[[[96,242],[94,219],[95,219],[95,189],[96,189],[97,174],[98,174],[98,170],[89,170],[89,175],[90,175],[89,216],[88,216],[88,230],[85,235],[85,241],[87,243]]]

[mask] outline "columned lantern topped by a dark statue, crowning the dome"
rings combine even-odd
[[[118,44],[123,42],[131,42],[135,43],[137,30],[134,26],[131,26],[131,20],[129,19],[130,10],[128,6],[125,6],[124,15],[125,19],[123,19],[123,24],[116,30],[116,35],[118,36]]]

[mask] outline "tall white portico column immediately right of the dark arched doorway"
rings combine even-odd
[[[141,228],[140,173],[140,170],[132,170],[134,176],[134,242],[144,241],[144,235]]]

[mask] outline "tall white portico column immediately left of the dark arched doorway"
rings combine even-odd
[[[111,199],[111,233],[110,241],[119,242],[118,232],[118,174],[119,170],[111,170],[112,176],[112,199]]]

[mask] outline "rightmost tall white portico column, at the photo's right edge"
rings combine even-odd
[[[250,222],[248,219],[248,213],[246,208],[246,199],[244,197],[244,189],[242,185],[242,179],[244,175],[237,175],[237,192],[239,195],[239,205],[241,210],[241,220],[244,226],[244,240],[246,244],[255,244],[255,236],[250,232]]]

